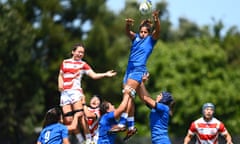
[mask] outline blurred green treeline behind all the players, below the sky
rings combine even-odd
[[[59,104],[59,66],[75,43],[85,44],[84,60],[96,72],[118,72],[102,80],[84,77],[87,99],[99,94],[119,104],[130,47],[125,18],[135,19],[137,31],[140,20],[149,17],[140,15],[135,1],[125,5],[116,14],[106,0],[0,2],[0,140],[24,143],[41,126],[46,109]],[[147,89],[152,97],[162,90],[175,97],[171,137],[185,135],[209,101],[230,133],[239,134],[240,32],[232,26],[222,35],[222,20],[198,26],[185,18],[173,29],[167,6],[164,1],[155,6],[161,10],[161,37],[149,59]],[[138,98],[136,109],[138,135],[149,136],[149,110]]]

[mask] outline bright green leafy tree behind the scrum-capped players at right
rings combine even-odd
[[[207,39],[189,39],[164,44],[158,43],[149,60],[149,91],[167,90],[173,93],[177,105],[171,122],[175,135],[187,130],[190,122],[201,116],[201,106],[213,102],[217,106],[216,116],[228,123],[232,120],[237,105],[239,75],[229,71],[226,52]],[[235,77],[236,79],[232,79]],[[235,124],[240,121],[235,119]],[[238,129],[227,124],[232,132]],[[173,133],[172,133],[173,134]]]

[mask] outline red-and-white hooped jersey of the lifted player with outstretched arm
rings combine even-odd
[[[63,74],[63,89],[80,89],[83,74],[87,74],[92,68],[84,61],[65,59],[60,68]]]

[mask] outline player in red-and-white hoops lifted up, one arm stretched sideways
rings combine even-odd
[[[63,60],[58,75],[58,89],[61,92],[60,106],[63,111],[64,124],[70,125],[74,113],[81,113],[80,121],[88,143],[88,141],[91,141],[91,134],[85,116],[83,115],[82,99],[84,98],[84,94],[81,87],[82,76],[86,74],[92,79],[100,79],[113,77],[116,75],[116,72],[109,70],[105,73],[96,73],[89,64],[82,60],[84,52],[85,48],[83,44],[76,44],[72,49],[72,57]]]

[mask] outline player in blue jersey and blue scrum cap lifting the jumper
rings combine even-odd
[[[171,144],[168,136],[168,122],[173,114],[175,101],[169,92],[161,92],[156,100],[152,99],[147,92],[144,83],[140,85],[140,96],[151,109],[150,128],[152,144]]]

